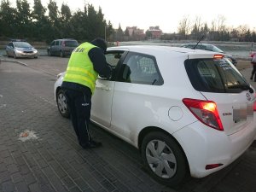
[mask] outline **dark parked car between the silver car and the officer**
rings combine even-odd
[[[47,53],[49,56],[58,55],[65,57],[66,55],[71,55],[73,49],[77,46],[79,46],[79,43],[73,38],[55,39],[49,44]]]

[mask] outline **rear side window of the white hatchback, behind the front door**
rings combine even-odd
[[[132,84],[163,84],[152,55],[129,53],[120,68],[118,81]]]

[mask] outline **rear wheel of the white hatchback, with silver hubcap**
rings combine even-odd
[[[188,164],[182,148],[163,132],[154,131],[143,138],[143,163],[159,183],[177,186],[188,176]]]

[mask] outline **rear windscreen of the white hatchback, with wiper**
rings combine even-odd
[[[249,84],[227,59],[193,59],[185,68],[195,90],[204,92],[240,93]]]

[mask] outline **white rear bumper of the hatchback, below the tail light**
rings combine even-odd
[[[206,177],[229,166],[249,148],[256,137],[256,121],[230,136],[197,121],[177,131],[173,137],[187,155],[191,176]],[[212,164],[223,166],[207,170],[206,166]]]

